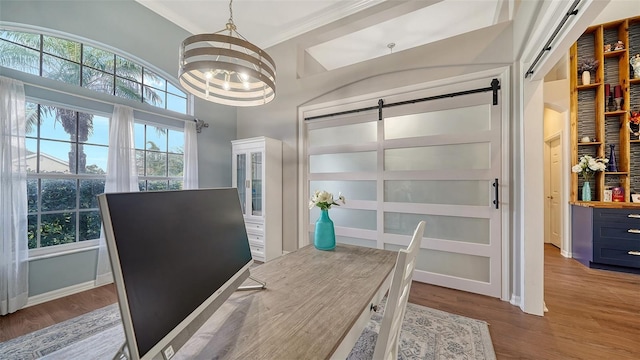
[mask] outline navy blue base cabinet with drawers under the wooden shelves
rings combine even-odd
[[[640,207],[572,206],[572,253],[592,268],[640,273]]]

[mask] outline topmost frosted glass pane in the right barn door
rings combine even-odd
[[[491,105],[489,104],[384,119],[385,139],[476,133],[488,130],[491,130]]]

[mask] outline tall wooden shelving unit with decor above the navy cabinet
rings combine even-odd
[[[604,51],[605,44],[618,40],[624,49]],[[640,140],[630,137],[628,126],[630,111],[640,110],[640,74],[634,76],[629,64],[635,54],[640,54],[640,17],[592,26],[571,47],[571,163],[577,164],[583,155],[610,158],[610,145],[615,146],[618,171],[596,173],[591,186],[594,201],[602,201],[606,187],[624,188],[627,203],[631,193],[640,193]],[[598,60],[599,66],[592,83],[583,85],[578,64],[589,58]],[[620,110],[610,109],[605,84],[611,92],[621,86]],[[583,137],[592,141],[582,143]],[[581,201],[582,184],[582,178],[572,173],[572,203]]]

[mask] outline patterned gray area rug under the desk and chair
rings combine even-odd
[[[384,305],[384,304],[383,304]],[[371,359],[382,312],[374,314],[349,355]],[[0,343],[2,359],[112,359],[124,343],[118,305]],[[398,359],[495,359],[487,323],[407,304]]]

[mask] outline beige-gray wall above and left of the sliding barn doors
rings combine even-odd
[[[389,11],[396,4],[403,6],[401,2],[390,3],[382,5],[389,7]],[[353,19],[353,22],[357,21]],[[341,22],[345,26],[351,23],[349,19]],[[320,39],[326,40],[328,28],[335,32],[336,26],[320,28],[266,49],[277,65],[276,98],[265,106],[238,109],[238,138],[265,135],[284,142],[282,178],[283,189],[287,191],[283,191],[286,194],[283,199],[283,248],[288,251],[297,248],[297,206],[307,202],[297,198],[297,191],[292,191],[298,188],[298,164],[304,161],[298,159],[297,148],[300,106],[508,66],[514,61],[511,25],[503,23],[455,39],[300,77],[299,74],[305,71],[298,65],[303,63],[298,61],[298,55],[304,56],[301,50]]]

